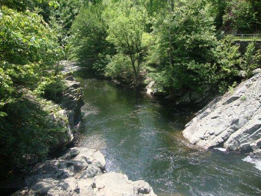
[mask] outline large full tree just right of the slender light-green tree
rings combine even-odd
[[[149,63],[157,66],[154,75],[158,88],[172,94],[182,88],[196,89],[207,74],[211,48],[217,40],[214,19],[203,0],[168,0],[165,11],[154,24],[155,44],[150,49]],[[202,73],[204,72],[202,70]]]

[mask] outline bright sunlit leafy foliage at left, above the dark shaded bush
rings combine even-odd
[[[55,74],[62,49],[55,32],[38,14],[2,6],[0,20],[1,105],[15,100],[15,86],[31,90]],[[12,90],[11,90],[12,89]]]

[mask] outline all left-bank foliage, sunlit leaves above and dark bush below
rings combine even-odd
[[[43,159],[66,131],[50,121],[50,113],[59,108],[46,111],[50,103],[38,98],[62,87],[58,61],[63,51],[56,35],[38,13],[1,7],[0,173],[4,177],[24,165],[25,154]],[[55,88],[49,90],[51,84]]]

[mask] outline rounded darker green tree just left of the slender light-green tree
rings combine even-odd
[[[103,74],[106,55],[114,53],[106,40],[107,25],[102,18],[104,5],[96,3],[81,9],[71,26],[71,57],[95,74]]]

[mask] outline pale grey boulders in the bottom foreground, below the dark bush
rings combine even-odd
[[[88,148],[74,147],[58,159],[36,165],[25,183],[12,196],[156,196],[143,180],[106,173],[104,156]]]

